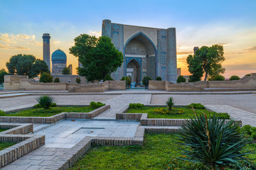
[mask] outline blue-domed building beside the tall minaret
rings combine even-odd
[[[62,70],[67,67],[67,55],[63,50],[55,50],[51,56],[52,74],[62,74]]]

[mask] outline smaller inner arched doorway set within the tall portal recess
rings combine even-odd
[[[133,59],[127,64],[127,76],[132,77],[132,82],[139,84],[141,81],[141,72],[142,67],[140,66],[139,62],[137,62],[137,60]]]

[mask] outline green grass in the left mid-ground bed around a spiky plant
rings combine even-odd
[[[1,116],[49,117],[49,116],[57,115],[58,113],[63,113],[63,112],[88,113],[93,110],[95,110],[95,108],[91,108],[90,106],[86,106],[86,107],[53,107],[50,109],[32,108],[32,109],[29,109],[26,111],[19,111],[16,113],[6,113]]]

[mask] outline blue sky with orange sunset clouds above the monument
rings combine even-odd
[[[223,45],[223,76],[256,72],[256,1],[82,1],[0,0],[0,69],[17,54],[43,59],[43,33],[50,53],[63,50],[73,74],[78,59],[69,54],[82,33],[101,35],[102,20],[153,28],[176,28],[177,67],[188,75],[186,57],[193,47]]]

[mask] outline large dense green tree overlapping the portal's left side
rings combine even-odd
[[[78,68],[78,74],[92,82],[104,79],[107,74],[121,67],[123,62],[122,52],[119,52],[106,36],[96,38],[81,34],[75,38],[75,45],[70,47],[70,54],[78,57],[82,64],[82,67]]]

